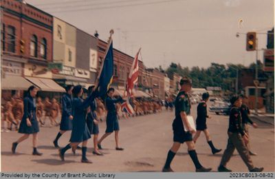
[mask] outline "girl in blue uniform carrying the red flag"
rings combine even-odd
[[[113,99],[113,93],[115,89],[110,88],[107,92],[106,98],[106,108],[107,108],[107,119],[106,119],[106,131],[105,134],[98,140],[98,149],[102,149],[101,142],[104,138],[111,135],[113,131],[115,131],[115,149],[116,150],[123,150],[118,144],[118,131],[120,131],[120,125],[118,124],[118,114],[115,109],[115,103],[123,103],[124,100],[119,96],[118,99]]]

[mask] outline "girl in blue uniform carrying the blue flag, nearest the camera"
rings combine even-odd
[[[72,101],[72,116],[74,116],[72,135],[69,140],[70,143],[63,149],[59,150],[59,156],[61,157],[61,160],[64,161],[65,152],[72,147],[76,148],[80,143],[82,143],[81,162],[91,163],[91,161],[86,157],[88,139],[91,138],[86,123],[86,109],[91,105],[91,102],[94,101],[96,94],[91,94],[83,101],[83,99],[80,98],[83,94],[83,87],[81,87],[81,85],[75,86],[72,93],[74,96]]]

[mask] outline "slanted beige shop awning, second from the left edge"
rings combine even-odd
[[[34,77],[25,77],[28,81],[34,83],[34,85],[41,88],[45,92],[65,92],[65,89],[54,82],[52,79],[46,78],[34,78]]]

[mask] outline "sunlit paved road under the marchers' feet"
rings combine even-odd
[[[192,115],[195,115],[195,106],[192,107]],[[172,112],[162,112],[148,116],[120,120],[120,142],[124,151],[115,151],[114,136],[109,136],[103,141],[104,156],[91,154],[92,142],[89,141],[87,157],[93,164],[80,162],[81,151],[76,156],[72,151],[65,155],[65,162],[58,157],[58,150],[52,145],[52,140],[58,132],[58,127],[42,127],[39,133],[39,151],[43,156],[32,156],[32,140],[29,138],[17,148],[17,154],[12,155],[10,149],[14,140],[20,134],[16,131],[1,133],[1,167],[2,171],[161,171],[168,149],[173,143]],[[254,165],[265,167],[265,171],[274,171],[274,126],[260,123],[259,129],[250,127],[252,136],[251,145],[258,156],[252,156]],[[212,114],[208,120],[208,129],[214,145],[224,149],[227,142],[226,130],[228,116]],[[100,123],[100,136],[105,129],[105,123]],[[60,145],[65,146],[69,139],[69,133],[61,137]],[[203,135],[197,140],[197,153],[201,164],[212,167],[217,171],[221,160],[221,154],[212,155]],[[183,145],[172,163],[172,167],[178,172],[195,171],[192,161],[187,153],[186,145]],[[248,171],[239,154],[234,156],[228,164],[233,171]]]

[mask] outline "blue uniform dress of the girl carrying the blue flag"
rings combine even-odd
[[[86,123],[86,109],[94,101],[95,96],[90,95],[84,101],[81,98],[73,98],[73,129],[70,138],[71,143],[82,143],[91,138],[91,134]]]

